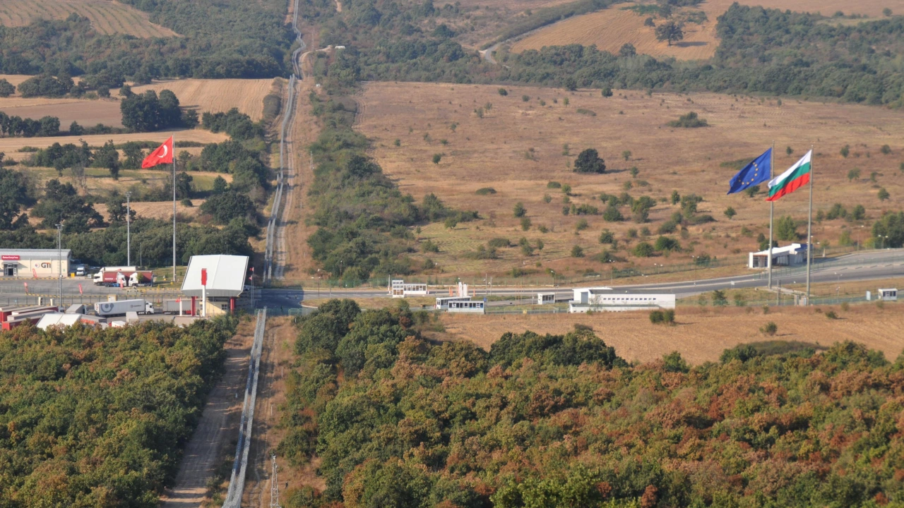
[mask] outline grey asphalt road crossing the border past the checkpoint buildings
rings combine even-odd
[[[701,273],[705,273],[702,271]],[[656,282],[651,284],[634,284],[634,285],[612,285],[617,291],[624,290],[626,292],[648,292],[648,291],[664,291],[674,293],[678,297],[694,296],[700,293],[713,291],[715,289],[730,288],[746,288],[746,287],[766,287],[767,277],[765,272],[750,273],[735,277],[725,278],[700,278],[694,277],[695,272],[687,272],[687,277],[681,282]],[[863,253],[849,254],[839,258],[832,259],[815,259],[813,272],[811,275],[812,283],[834,282],[839,283],[862,281],[880,278],[896,278],[904,277],[904,249],[888,249],[881,251],[871,251]],[[790,284],[803,284],[806,280],[806,268],[776,268],[773,277],[773,285],[781,285],[783,287]],[[53,279],[10,279],[0,280],[0,305],[7,301],[14,303],[16,298],[27,296],[24,290],[24,283],[28,283],[28,293],[33,295],[56,295],[59,291],[59,282]],[[63,296],[64,302],[69,303],[71,299],[80,300],[79,284],[81,284],[81,296],[83,300],[97,301],[106,299],[108,295],[118,296],[134,296],[136,298],[143,297],[143,293],[123,290],[117,287],[99,287],[94,286],[90,279],[63,279]],[[600,286],[606,285],[606,281],[600,281]],[[489,294],[493,296],[533,296],[538,291],[552,292],[550,287],[536,287],[516,289],[509,287],[493,288],[485,291],[483,288],[477,289],[477,296]],[[559,298],[571,296],[571,287],[557,287],[554,289]],[[175,292],[151,292],[152,297],[164,296],[172,298]],[[319,297],[379,297],[386,296],[385,289],[330,289],[322,287],[319,291]],[[269,308],[297,308],[301,302],[307,299],[318,297],[316,289],[301,288],[267,288],[258,289],[255,295],[257,306],[268,306]],[[514,300],[514,299],[513,299]],[[507,305],[508,302],[492,302],[491,305]]]

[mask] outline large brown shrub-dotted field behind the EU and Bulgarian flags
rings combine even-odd
[[[438,254],[415,254],[420,262],[429,257],[448,275],[499,275],[512,268],[523,268],[542,274],[545,268],[560,275],[574,275],[584,270],[607,272],[613,265],[591,258],[604,247],[598,243],[601,230],[612,230],[619,242],[617,256],[625,257],[638,267],[654,263],[689,263],[702,253],[746,259],[746,253],[757,249],[756,235],[767,234],[769,207],[763,196],[751,199],[745,194],[726,195],[728,181],[737,169],[721,163],[752,158],[776,143],[776,173],[793,165],[811,144],[815,144],[815,212],[827,210],[834,202],[842,202],[850,210],[855,204],[866,208],[870,219],[883,211],[904,208],[904,184],[899,164],[904,161],[904,148],[896,133],[904,128],[904,118],[897,111],[857,105],[822,104],[785,99],[731,97],[719,94],[682,95],[616,90],[612,98],[602,98],[598,90],[567,92],[561,89],[508,87],[501,97],[498,87],[482,85],[449,85],[427,83],[369,83],[359,99],[363,115],[358,129],[372,139],[372,155],[384,171],[400,184],[403,193],[411,193],[420,201],[427,193],[459,210],[476,210],[482,220],[463,222],[453,229],[442,223],[429,224],[420,231],[421,240],[438,244]],[[529,97],[524,102],[522,96]],[[541,98],[545,106],[541,106]],[[565,106],[563,99],[570,99]],[[557,102],[554,102],[556,100]],[[484,118],[474,110],[492,108]],[[579,113],[592,111],[595,116]],[[667,127],[670,120],[688,111],[696,111],[711,127],[681,129]],[[452,126],[455,125],[453,131]],[[425,135],[428,137],[425,139]],[[399,139],[400,146],[395,146]],[[446,145],[443,144],[446,141]],[[881,155],[880,146],[888,144],[890,155]],[[567,152],[563,146],[568,145]],[[839,155],[842,146],[850,145],[850,155]],[[786,155],[792,146],[793,155]],[[576,174],[570,169],[579,152],[598,149],[606,160],[607,174]],[[631,151],[630,160],[622,153]],[[438,165],[434,154],[445,154]],[[632,178],[626,169],[638,168]],[[858,168],[861,177],[849,182],[848,170]],[[876,172],[876,182],[870,175]],[[557,181],[571,185],[569,201],[605,208],[600,193],[619,194],[627,191],[634,197],[647,195],[657,201],[650,222],[605,222],[598,215],[563,215],[567,196],[560,189],[549,189],[547,183]],[[490,195],[476,195],[476,190],[492,187]],[[890,193],[890,200],[880,202],[879,187]],[[765,188],[765,185],[764,185]],[[699,212],[716,219],[710,224],[689,226],[687,238],[675,235],[683,252],[655,258],[635,258],[627,250],[641,239],[629,238],[630,230],[643,236],[648,227],[656,238],[656,229],[679,207],[661,202],[673,190],[682,195],[697,193],[705,199]],[[551,202],[544,202],[549,194]],[[523,202],[532,227],[523,231],[513,217],[513,206]],[[723,212],[733,207],[738,215],[727,219]],[[776,217],[790,215],[805,221],[807,198],[798,192],[776,204]],[[629,214],[626,208],[622,212]],[[581,219],[588,229],[576,231]],[[549,231],[542,233],[540,226]],[[742,228],[745,232],[742,233]],[[851,230],[852,240],[865,240],[869,225],[842,220],[815,223],[815,241],[838,245],[843,229]],[[805,228],[798,228],[804,234]],[[500,259],[466,259],[465,254],[495,237],[513,243],[521,237],[544,248],[532,256],[520,249],[500,249]],[[786,242],[781,242],[785,245]],[[570,257],[572,246],[584,249],[584,258]],[[626,249],[627,247],[627,249]],[[687,251],[692,248],[692,252]],[[537,264],[540,266],[537,266]],[[626,263],[616,263],[622,268]]]

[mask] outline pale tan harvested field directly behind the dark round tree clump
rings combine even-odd
[[[162,80],[133,88],[136,93],[153,89],[171,90],[183,108],[196,108],[199,113],[220,113],[239,108],[252,120],[263,118],[264,97],[273,80]]]

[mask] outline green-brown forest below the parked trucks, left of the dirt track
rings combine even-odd
[[[0,505],[157,506],[236,325],[0,334]]]

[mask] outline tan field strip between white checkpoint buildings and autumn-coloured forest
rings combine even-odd
[[[651,362],[664,354],[677,351],[691,363],[717,362],[727,348],[740,343],[766,340],[801,341],[831,345],[841,341],[864,343],[885,353],[890,361],[904,349],[904,313],[901,304],[878,309],[876,306],[851,306],[834,310],[840,319],[826,319],[824,314],[802,307],[781,307],[763,315],[759,309],[678,309],[677,325],[650,323],[648,313],[598,313],[594,315],[442,315],[446,332],[437,334],[446,340],[469,340],[489,349],[506,332],[516,334],[531,330],[537,334],[564,334],[574,325],[592,326],[598,336],[627,361]],[[778,326],[774,337],[759,333],[768,322]]]

